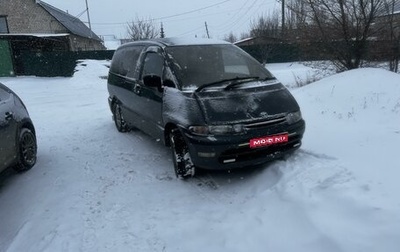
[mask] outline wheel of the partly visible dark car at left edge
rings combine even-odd
[[[18,162],[14,166],[17,172],[31,169],[37,160],[37,142],[35,134],[23,128],[18,138]]]

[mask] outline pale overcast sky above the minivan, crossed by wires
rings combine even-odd
[[[231,31],[237,37],[248,32],[250,22],[279,9],[276,0],[87,0],[93,31],[100,36],[126,37],[127,22],[153,19],[163,23],[166,36],[224,38]],[[44,0],[87,22],[85,0]]]

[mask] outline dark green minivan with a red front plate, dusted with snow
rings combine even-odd
[[[108,75],[120,132],[137,128],[170,146],[178,178],[196,168],[261,164],[298,149],[299,105],[258,61],[212,39],[165,38],[120,46]]]

